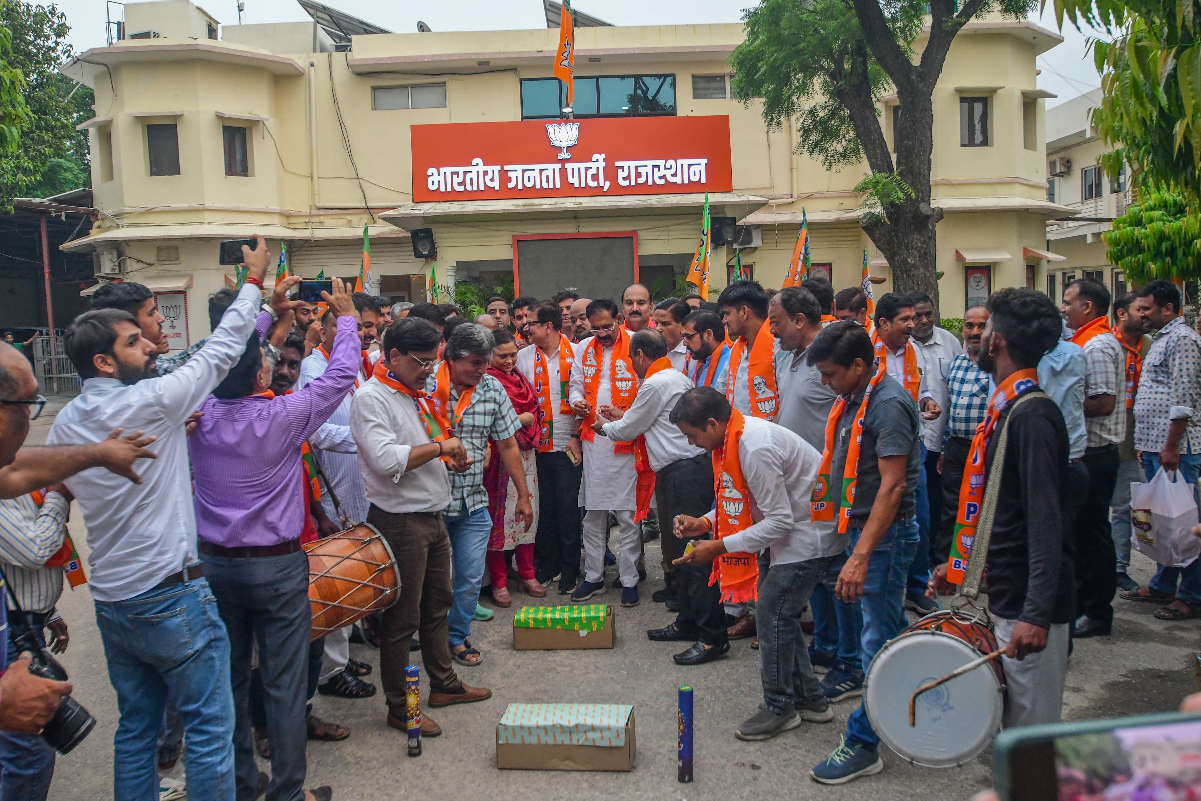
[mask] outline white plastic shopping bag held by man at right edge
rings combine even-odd
[[[1169,478],[1160,467],[1148,483],[1130,485],[1130,542],[1160,564],[1185,567],[1201,555],[1196,496],[1178,471]]]

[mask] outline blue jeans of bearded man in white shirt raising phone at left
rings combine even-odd
[[[234,797],[229,639],[205,579],[96,603],[96,623],[121,719],[113,797],[159,801],[155,743],[167,693],[184,718],[190,801]]]

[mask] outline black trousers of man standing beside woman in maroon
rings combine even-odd
[[[572,465],[567,453],[539,453],[538,533],[533,540],[533,563],[539,574],[562,573],[562,580],[580,574],[584,515],[580,513],[580,480],[584,465]]]

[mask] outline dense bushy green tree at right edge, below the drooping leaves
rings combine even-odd
[[[1167,186],[1146,184],[1101,239],[1110,263],[1136,283],[1201,279],[1201,217]]]

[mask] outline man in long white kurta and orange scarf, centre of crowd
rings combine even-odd
[[[616,405],[615,383],[625,385],[622,391],[629,391],[637,382],[626,361],[614,358],[619,340],[629,340],[629,331],[622,328],[617,304],[610,298],[597,298],[588,304],[587,315],[593,335],[580,342],[569,384],[572,407],[584,420],[593,418],[602,406]],[[585,574],[584,581],[572,593],[573,602],[582,603],[604,592],[604,550],[609,512],[613,512],[621,528],[617,570],[622,604],[638,604],[638,557],[643,550],[643,537],[634,522],[637,482],[633,453],[617,453],[615,443],[608,437],[585,437],[584,480],[580,484],[580,506],[585,510]]]

